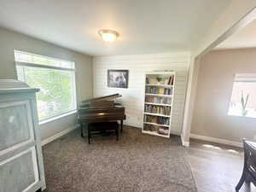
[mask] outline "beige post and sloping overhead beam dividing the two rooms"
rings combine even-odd
[[[256,6],[255,0],[230,0],[230,5],[212,23],[207,32],[202,36],[201,41],[191,48],[191,61],[189,67],[189,82],[185,102],[185,113],[183,120],[182,139],[183,144],[189,145],[189,136],[192,126],[192,116],[195,105],[194,88],[197,86],[197,61],[195,57],[205,51],[212,43],[221,37],[224,32],[230,29],[238,20]]]

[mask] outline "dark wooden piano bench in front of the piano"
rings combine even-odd
[[[108,131],[114,131],[116,135],[116,140],[119,140],[119,124],[117,121],[90,123],[88,125],[88,143],[90,144],[90,138],[92,135],[104,135],[107,134]]]

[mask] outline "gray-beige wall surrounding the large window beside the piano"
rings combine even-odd
[[[71,37],[72,38],[72,37]],[[92,93],[92,57],[64,49],[54,44],[29,38],[16,32],[0,28],[0,79],[16,79],[14,49],[38,55],[52,56],[76,64],[76,86],[78,102]],[[76,114],[40,125],[42,139],[51,137],[76,124]]]

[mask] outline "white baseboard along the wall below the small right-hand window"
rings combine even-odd
[[[190,138],[195,138],[195,139],[200,139],[207,142],[220,143],[220,144],[231,145],[231,146],[242,148],[242,143],[240,142],[233,142],[230,140],[220,139],[216,137],[207,137],[207,136],[200,136],[196,134],[190,134]]]

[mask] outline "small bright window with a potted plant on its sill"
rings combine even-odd
[[[256,118],[255,73],[236,73],[229,115]]]

